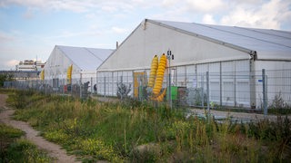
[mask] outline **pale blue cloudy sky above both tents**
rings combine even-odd
[[[115,49],[146,18],[291,31],[291,0],[0,0],[0,70],[55,45]]]

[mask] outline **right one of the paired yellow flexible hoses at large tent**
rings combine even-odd
[[[160,62],[158,63],[158,68],[156,72],[156,82],[153,89],[154,96],[156,97],[162,89],[165,69],[166,69],[166,55],[165,53],[163,53],[163,55],[160,58]]]

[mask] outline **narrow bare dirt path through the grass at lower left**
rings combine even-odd
[[[25,131],[25,138],[34,142],[36,146],[40,149],[45,149],[48,151],[49,155],[53,158],[57,158],[56,162],[60,163],[70,163],[77,162],[75,161],[75,156],[66,155],[65,149],[61,149],[61,146],[56,145],[55,143],[49,142],[46,139],[38,136],[39,132],[29,126],[28,123],[24,121],[11,120],[11,116],[15,112],[15,110],[11,110],[5,107],[5,101],[7,99],[7,95],[0,94],[0,121],[5,124],[12,126],[16,129],[22,129]]]

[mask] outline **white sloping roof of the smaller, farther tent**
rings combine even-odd
[[[86,47],[72,47],[55,45],[82,71],[95,71],[113,52],[111,49],[95,49]]]

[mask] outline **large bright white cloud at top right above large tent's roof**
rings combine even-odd
[[[280,29],[281,24],[291,19],[291,2],[271,0],[261,5],[237,5],[220,24],[246,27]]]

